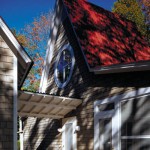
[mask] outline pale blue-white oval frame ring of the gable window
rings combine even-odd
[[[70,69],[70,73],[69,73],[69,77],[67,78],[67,80],[63,83],[61,83],[58,79],[58,64],[59,64],[59,61],[60,61],[60,58],[61,58],[61,55],[63,53],[63,51],[65,50],[68,50],[70,55],[71,55],[71,69]],[[73,73],[73,69],[74,69],[74,65],[75,65],[75,58],[74,58],[74,52],[73,52],[73,49],[71,47],[70,44],[66,44],[64,45],[58,52],[58,55],[57,55],[57,58],[56,58],[56,63],[55,63],[55,67],[54,67],[54,80],[55,80],[55,83],[56,85],[59,87],[59,88],[64,88],[70,81],[71,77],[72,77],[72,73]]]

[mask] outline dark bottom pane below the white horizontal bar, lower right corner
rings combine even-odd
[[[150,139],[121,140],[121,150],[150,150]]]

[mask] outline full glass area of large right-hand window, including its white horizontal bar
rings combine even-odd
[[[121,102],[121,150],[150,150],[150,97]]]

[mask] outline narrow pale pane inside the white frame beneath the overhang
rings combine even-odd
[[[73,124],[65,125],[65,150],[73,150]]]

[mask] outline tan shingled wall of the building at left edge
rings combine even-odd
[[[13,149],[13,53],[0,36],[0,149]]]

